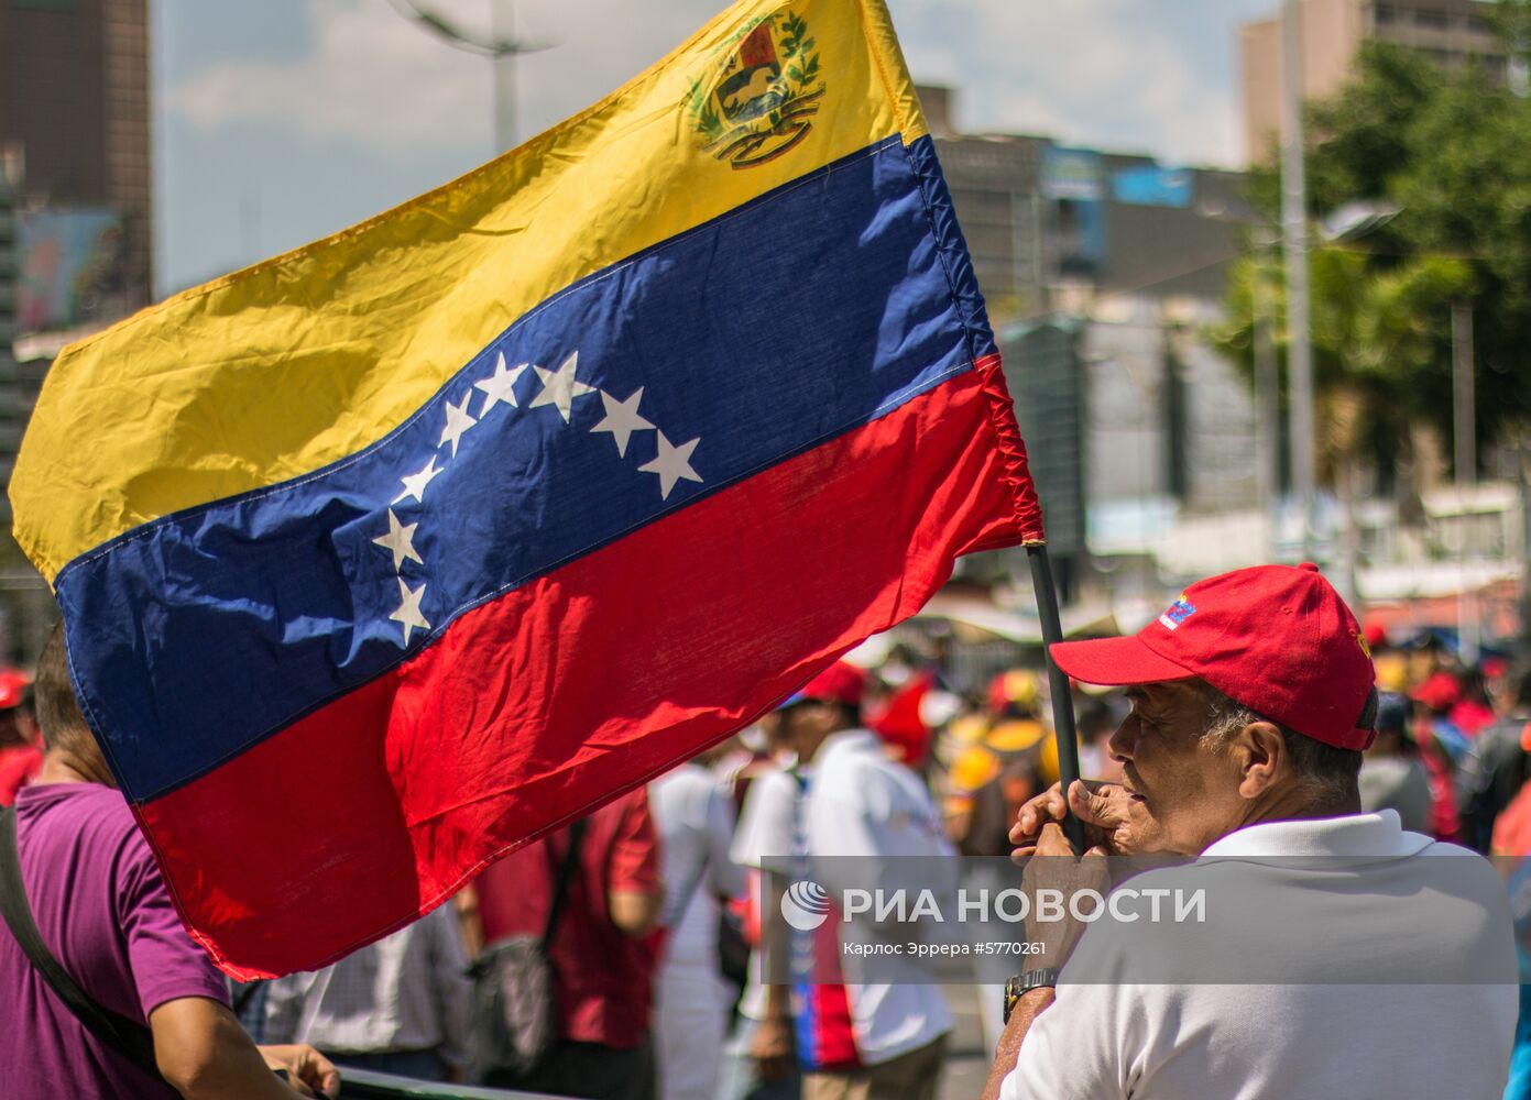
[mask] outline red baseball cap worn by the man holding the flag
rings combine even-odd
[[[1131,638],[1049,652],[1087,684],[1196,678],[1326,745],[1366,748],[1375,736],[1356,727],[1376,682],[1361,624],[1307,561],[1208,577]]]

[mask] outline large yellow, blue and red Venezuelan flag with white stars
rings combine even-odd
[[[880,0],[69,347],[11,487],[214,961],[329,962],[1040,540]]]

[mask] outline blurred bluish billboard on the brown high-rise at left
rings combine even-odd
[[[115,210],[17,211],[17,327],[67,329],[126,312],[126,219]]]

